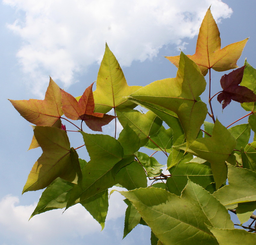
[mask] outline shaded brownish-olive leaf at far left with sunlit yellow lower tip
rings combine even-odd
[[[78,155],[70,149],[67,133],[57,128],[36,126],[34,134],[43,153],[30,171],[22,193],[43,189],[58,177],[80,183],[82,173]]]

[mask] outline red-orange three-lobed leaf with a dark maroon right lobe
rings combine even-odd
[[[94,112],[93,83],[84,91],[79,101],[69,93],[61,90],[62,110],[64,115],[72,120],[83,120],[93,131],[102,132],[102,126],[111,122],[115,116]]]

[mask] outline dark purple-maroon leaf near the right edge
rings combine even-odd
[[[222,109],[224,109],[231,100],[243,103],[256,101],[256,95],[253,91],[245,86],[239,86],[242,82],[245,66],[238,68],[229,74],[225,74],[220,79],[223,91],[218,95],[217,100],[222,102]]]

